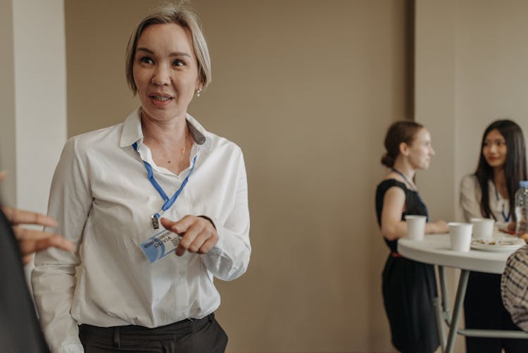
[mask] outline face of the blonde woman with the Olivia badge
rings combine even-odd
[[[137,41],[132,66],[146,118],[183,117],[201,87],[192,39],[175,23],[150,25]]]

